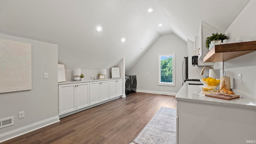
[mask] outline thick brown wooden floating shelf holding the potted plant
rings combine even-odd
[[[256,41],[220,44],[206,54],[204,62],[224,62],[256,51]]]

